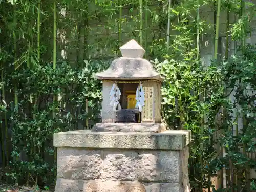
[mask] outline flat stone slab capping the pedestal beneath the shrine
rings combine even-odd
[[[191,131],[183,130],[169,130],[161,133],[79,130],[55,133],[53,145],[79,148],[182,150],[190,141]]]

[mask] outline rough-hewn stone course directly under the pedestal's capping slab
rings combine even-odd
[[[69,151],[68,154],[65,151]],[[184,149],[186,151],[186,149]],[[59,148],[57,177],[64,179],[101,179],[111,181],[179,182],[188,180],[188,153],[147,150],[73,150]],[[74,156],[76,154],[76,156]]]

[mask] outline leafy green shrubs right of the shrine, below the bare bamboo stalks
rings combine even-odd
[[[243,56],[212,62],[208,68],[203,68],[201,63],[184,60],[152,61],[164,77],[162,105],[169,127],[193,132],[189,170],[190,184],[194,190],[199,190],[200,185],[208,188],[207,175],[217,176],[223,167],[233,175],[242,176],[233,187],[244,186],[243,190],[248,189],[246,182],[249,181],[246,181],[248,176],[245,173],[256,167],[255,161],[247,155],[254,153],[256,146],[255,59],[255,46],[248,45]],[[231,93],[234,101],[229,99]],[[240,109],[233,117],[238,105]],[[239,117],[245,120],[243,129],[236,135],[234,126]],[[210,140],[216,134],[220,137]],[[203,145],[202,152],[200,143]],[[223,146],[226,156],[220,158],[214,145]],[[241,147],[244,151],[241,151]],[[203,158],[200,160],[201,156]],[[203,172],[203,183],[199,183],[200,172]],[[251,186],[254,186],[253,183]]]

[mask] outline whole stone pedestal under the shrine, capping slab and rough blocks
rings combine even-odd
[[[55,192],[188,192],[190,131],[54,134]]]

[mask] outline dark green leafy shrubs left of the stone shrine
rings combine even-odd
[[[12,179],[26,178],[29,174],[51,183],[56,171],[50,144],[53,133],[81,129],[77,122],[87,117],[99,121],[102,88],[94,73],[106,66],[99,61],[85,62],[89,62],[89,67],[84,69],[72,69],[67,62],[61,62],[56,69],[48,64],[6,74],[8,87],[13,89],[16,84],[18,96],[23,98],[19,101],[19,111],[12,117],[12,157],[15,158],[10,162],[12,172],[8,173]],[[58,101],[52,102],[54,95],[58,95]],[[88,114],[83,106],[86,98],[91,101]],[[79,113],[78,108],[81,108]],[[19,160],[22,153],[28,161]]]

